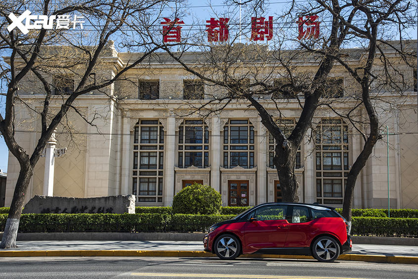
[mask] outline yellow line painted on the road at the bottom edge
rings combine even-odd
[[[171,273],[132,273],[130,276],[158,277],[201,277],[201,278],[263,278],[263,279],[364,279],[347,277],[306,277],[306,276],[275,276],[275,275],[229,275],[229,274],[171,274]]]

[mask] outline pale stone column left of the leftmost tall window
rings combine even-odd
[[[132,157],[131,154],[131,138],[130,135],[130,126],[131,120],[129,115],[129,110],[124,110],[124,116],[122,118],[122,125],[123,125],[123,136],[122,136],[122,171],[121,171],[121,194],[122,195],[130,195],[132,194],[131,191],[131,168],[130,168],[130,160]]]

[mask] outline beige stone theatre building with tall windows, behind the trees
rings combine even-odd
[[[138,55],[110,48],[107,56],[102,57],[101,70],[101,75],[108,78]],[[197,54],[186,55],[193,61]],[[196,181],[219,191],[223,205],[256,205],[280,200],[280,182],[271,161],[274,141],[255,109],[238,99],[217,115],[205,119],[198,114],[185,117],[191,104],[198,106],[222,91],[217,92],[215,86],[196,80],[167,56],[161,57],[129,70],[125,75],[129,80],[108,86],[106,93],[111,98],[98,92],[78,98],[77,107],[96,126],[71,112],[66,122],[72,127],[72,137],[68,129],[59,127],[57,147],[68,150],[65,156],[55,158],[53,195],[89,198],[133,194],[138,205],[167,206],[182,187]],[[354,65],[360,59],[361,54],[350,63]],[[307,71],[315,65],[314,61],[295,63]],[[391,133],[389,158],[387,138],[383,136],[358,177],[354,207],[387,208],[389,159],[390,207],[418,208],[414,70],[407,65],[400,65],[399,69],[411,86],[402,94],[389,90],[379,92],[380,100],[375,101],[382,133],[386,125]],[[331,76],[344,89],[334,95],[335,107],[353,108],[357,101],[351,96],[358,94],[352,86],[355,82],[338,65]],[[30,79],[19,90],[19,96],[39,108],[43,96],[36,89],[36,81]],[[71,86],[67,87],[77,83],[77,78],[70,80]],[[72,88],[67,87],[66,92],[71,93]],[[58,107],[60,102],[61,96],[57,95],[52,107]],[[275,102],[268,98],[260,102],[272,115],[278,116]],[[282,124],[293,125],[300,113],[299,102],[279,99],[277,104],[283,115]],[[17,108],[16,135],[19,143],[31,152],[40,120],[23,105]],[[361,107],[355,114],[359,120],[365,117]],[[313,131],[308,131],[296,159],[299,200],[340,207],[345,177],[361,152],[363,139],[349,121],[338,118],[325,106],[317,110],[314,122]],[[362,131],[364,127],[359,129]],[[18,171],[19,164],[10,154],[6,206],[11,202]],[[44,159],[41,158],[27,199],[42,194],[43,179]]]

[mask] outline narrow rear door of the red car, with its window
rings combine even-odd
[[[302,205],[289,207],[290,224],[285,247],[307,247],[312,235],[312,224],[309,208]]]

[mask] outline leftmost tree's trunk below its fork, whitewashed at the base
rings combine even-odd
[[[7,216],[6,226],[4,228],[3,238],[0,248],[15,248],[17,229],[19,228],[20,215],[22,214],[25,202],[25,193],[33,175],[33,168],[30,164],[20,164],[19,177],[17,178],[14,189],[13,199],[10,205],[9,215]]]

